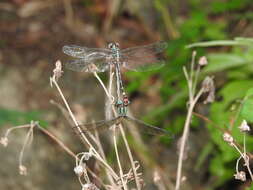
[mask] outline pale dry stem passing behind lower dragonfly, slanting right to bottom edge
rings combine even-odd
[[[110,71],[111,71],[111,70],[110,70]],[[110,77],[110,80],[112,80],[112,77]],[[103,84],[102,80],[99,80],[99,82],[100,82],[100,84],[101,84],[102,86],[105,86],[105,85]],[[109,81],[109,84],[111,84],[111,83],[112,83],[112,81]],[[108,96],[108,97],[110,98],[111,96]],[[112,107],[112,110],[113,110],[114,115],[116,116],[116,115],[117,115],[117,112],[116,112],[115,108]],[[136,169],[135,169],[135,164],[134,164],[133,155],[132,155],[132,152],[131,152],[131,150],[130,150],[129,144],[128,144],[128,142],[127,142],[126,135],[125,135],[125,132],[124,132],[124,130],[123,130],[123,126],[122,126],[122,124],[119,124],[118,126],[119,126],[119,128],[120,128],[120,133],[121,133],[121,135],[122,135],[124,144],[125,144],[126,149],[127,149],[128,157],[129,157],[130,162],[131,162],[131,167],[132,167],[132,169],[133,169],[134,179],[135,179],[135,183],[136,183],[137,190],[141,190],[141,185],[140,185],[140,182],[139,182],[139,180],[138,180],[138,175],[137,175],[137,172],[136,172]]]

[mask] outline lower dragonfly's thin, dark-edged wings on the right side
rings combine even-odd
[[[143,133],[147,133],[150,135],[156,135],[156,136],[166,136],[166,137],[170,137],[170,138],[173,137],[173,135],[170,132],[168,132],[162,128],[156,127],[154,125],[150,125],[148,123],[145,123],[139,119],[129,117],[129,116],[125,116],[124,118],[130,122],[140,125],[139,129],[141,131],[143,131]]]

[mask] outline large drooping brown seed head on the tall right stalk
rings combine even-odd
[[[202,88],[204,93],[208,93],[208,96],[204,101],[204,104],[213,102],[215,99],[215,86],[213,77],[207,76],[202,82]]]

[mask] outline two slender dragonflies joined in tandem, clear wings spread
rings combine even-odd
[[[154,135],[170,135],[166,130],[147,124],[136,118],[127,116],[127,107],[130,103],[121,79],[121,66],[133,71],[148,71],[160,68],[165,61],[161,59],[162,52],[167,48],[166,42],[157,42],[146,46],[139,46],[120,50],[118,43],[110,43],[106,48],[87,48],[75,45],[63,47],[63,52],[75,60],[70,61],[67,69],[78,72],[104,72],[110,66],[115,67],[117,84],[117,101],[115,107],[118,116],[110,120],[101,120],[93,123],[81,124],[83,132],[94,129],[111,127],[120,124],[123,120],[138,123],[145,128],[145,132]]]

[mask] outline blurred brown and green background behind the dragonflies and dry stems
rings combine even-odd
[[[55,61],[64,63],[66,59],[62,47],[69,44],[107,47],[108,42],[118,42],[121,48],[127,48],[164,40],[169,44],[168,64],[151,72],[125,72],[123,81],[130,97],[131,113],[175,134],[174,139],[141,134],[141,142],[128,136],[143,171],[144,189],[159,189],[153,183],[155,171],[160,172],[165,189],[173,189],[177,144],[187,113],[188,94],[182,67],[189,66],[193,51],[185,46],[200,41],[252,37],[252,11],[252,0],[2,0],[1,136],[11,126],[38,120],[74,152],[85,151],[65,117],[49,103],[51,99],[62,103],[56,89],[49,85]],[[247,45],[241,46],[221,44],[195,49],[197,57],[206,55],[209,61],[200,79],[205,75],[215,76],[216,85],[215,103],[200,102],[195,111],[222,128],[227,129],[231,122],[240,123],[240,118],[234,121],[238,105],[253,86],[253,46],[252,40],[246,41]],[[107,82],[107,74],[100,77]],[[92,74],[64,70],[59,85],[78,119],[104,118],[105,95]],[[252,100],[248,103],[253,105]],[[253,122],[252,113],[243,116]],[[238,142],[242,142],[238,130],[231,130]],[[25,135],[26,130],[13,132],[8,147],[0,148],[0,189],[80,189],[73,172],[73,158],[39,131],[25,153],[28,175],[20,176],[18,154]],[[108,136],[102,134],[102,142],[108,160],[114,165],[115,155]],[[249,136],[247,143],[250,151],[253,138]],[[222,141],[220,130],[194,117],[182,189],[247,189],[250,181],[242,183],[233,177],[238,157]],[[123,163],[129,164],[127,160]],[[90,163],[90,168],[99,173],[95,163]]]

